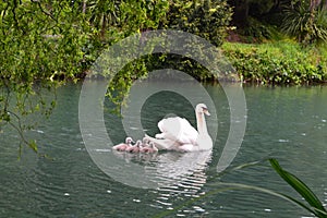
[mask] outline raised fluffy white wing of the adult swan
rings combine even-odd
[[[177,141],[180,144],[195,144],[198,136],[197,131],[190,122],[180,117],[166,118],[158,122],[158,128],[161,131],[161,137]]]

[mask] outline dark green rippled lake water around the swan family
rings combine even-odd
[[[107,173],[98,168],[80,131],[81,84],[59,88],[53,114],[49,120],[40,120],[39,125],[27,133],[37,138],[40,153],[51,159],[38,158],[26,148],[17,160],[17,134],[9,128],[0,134],[0,217],[310,217],[306,210],[261,192],[214,193],[221,189],[219,182],[242,183],[301,199],[267,161],[217,177],[217,164],[231,125],[230,108],[220,86],[204,86],[217,112],[217,118],[207,118],[209,130],[218,123],[213,153],[112,156],[110,147],[94,150],[122,161],[125,169],[144,166],[152,170],[153,178],[166,178],[167,185],[157,189],[129,186],[119,181],[124,177],[140,179],[124,174],[122,168],[117,169],[121,178],[113,175],[114,172],[110,177],[108,172],[114,171],[112,167]],[[237,87],[230,85],[229,88]],[[327,87],[245,86],[243,89],[247,106],[246,131],[230,167],[275,157],[312,187],[326,206]],[[106,101],[105,106],[110,107],[110,104]],[[184,116],[195,124],[194,110],[185,98],[161,92],[149,97],[140,111],[143,130],[154,135],[157,121],[171,113]],[[105,123],[113,143],[124,140],[119,117],[105,112]],[[143,130],[125,126],[125,131],[135,132],[136,137]],[[197,160],[202,162],[193,165]]]

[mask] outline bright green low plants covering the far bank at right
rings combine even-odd
[[[291,40],[225,43],[223,55],[245,83],[318,84],[327,82],[326,46],[303,47]]]

